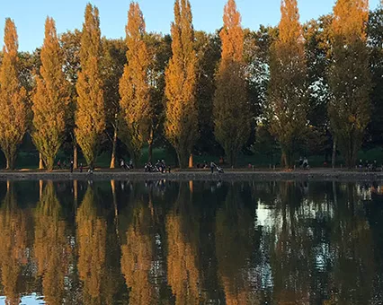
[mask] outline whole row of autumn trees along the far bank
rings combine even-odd
[[[371,12],[369,22],[368,7],[338,0],[333,14],[301,25],[297,0],[283,0],[277,28],[251,31],[228,0],[223,27],[207,34],[193,30],[189,1],[176,0],[171,36],[161,36],[146,32],[131,3],[123,41],[101,38],[98,10],[88,4],[81,32],[58,37],[47,18],[43,46],[32,54],[18,53],[7,19],[0,68],[7,169],[27,131],[49,170],[63,143],[73,144],[75,165],[78,145],[94,166],[105,135],[111,168],[119,141],[135,162],[144,144],[149,161],[155,142],[169,144],[182,168],[191,153],[220,151],[236,165],[238,153],[257,144],[264,153],[278,144],[291,167],[302,147],[324,153],[332,144],[352,167],[362,142],[379,143],[383,129],[383,13]]]

